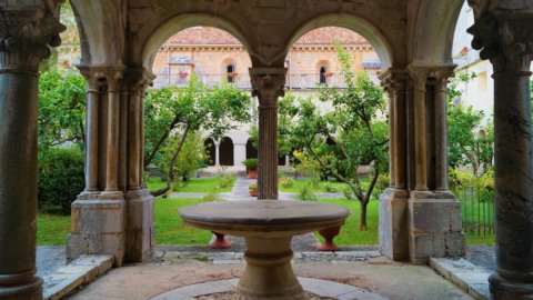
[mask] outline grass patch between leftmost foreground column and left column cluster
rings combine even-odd
[[[70,232],[70,214],[37,213],[37,244],[66,244]]]

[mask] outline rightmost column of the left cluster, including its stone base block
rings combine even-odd
[[[128,189],[125,193],[125,262],[147,261],[154,247],[153,197],[142,184],[144,137],[143,94],[154,79],[144,69],[127,73],[128,98]]]

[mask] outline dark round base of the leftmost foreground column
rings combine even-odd
[[[18,284],[19,274],[0,276],[0,300],[42,300],[42,279],[33,277]]]

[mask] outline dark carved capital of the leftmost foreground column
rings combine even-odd
[[[0,4],[0,71],[36,73],[50,47],[61,44],[60,1],[29,1],[17,7]]]

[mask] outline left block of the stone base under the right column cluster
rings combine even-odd
[[[406,190],[388,188],[380,197],[380,251],[394,261],[409,259]]]

